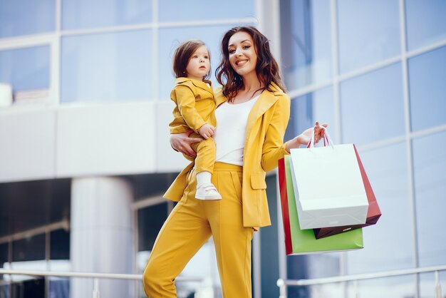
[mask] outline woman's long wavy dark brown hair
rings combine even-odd
[[[239,26],[227,31],[222,39],[222,61],[215,71],[215,76],[223,86],[223,95],[231,101],[243,86],[242,76],[236,73],[229,63],[229,38],[237,32],[246,32],[254,41],[254,49],[257,54],[256,73],[261,84],[266,90],[271,91],[270,84],[274,82],[282,91],[285,91],[279,74],[279,65],[269,49],[268,38],[253,26]]]

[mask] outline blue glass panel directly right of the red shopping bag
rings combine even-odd
[[[405,143],[367,152],[359,150],[359,155],[383,215],[376,225],[363,229],[364,248],[348,252],[348,274],[413,267]]]

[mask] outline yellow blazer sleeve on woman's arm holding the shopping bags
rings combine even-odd
[[[284,135],[289,121],[291,100],[284,95],[276,102],[274,114],[266,130],[265,141],[261,153],[261,168],[265,172],[274,170],[279,159],[289,154],[286,151]]]

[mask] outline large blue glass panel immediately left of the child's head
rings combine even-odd
[[[62,39],[61,101],[152,98],[149,30]]]

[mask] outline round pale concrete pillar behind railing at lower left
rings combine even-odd
[[[71,183],[71,266],[74,272],[133,273],[133,191],[121,178]],[[71,298],[93,295],[93,279],[71,279]],[[100,297],[133,297],[134,282],[100,279]]]

